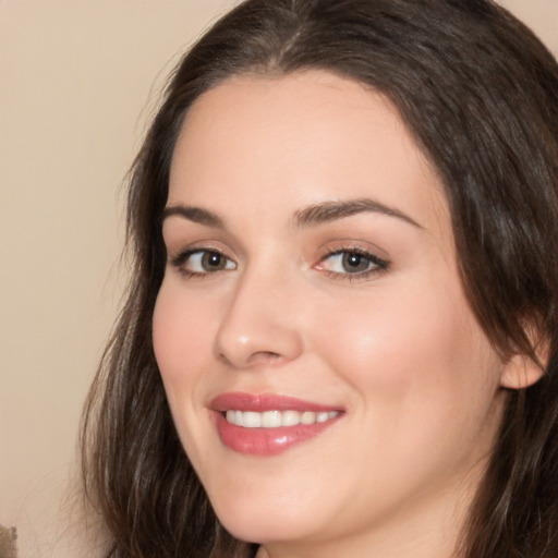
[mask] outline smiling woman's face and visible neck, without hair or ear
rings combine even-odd
[[[449,554],[505,364],[393,107],[317,71],[215,87],[179,137],[163,236],[155,352],[225,526],[288,556]]]

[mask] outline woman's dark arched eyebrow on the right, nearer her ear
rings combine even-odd
[[[367,197],[313,204],[296,211],[294,214],[294,221],[298,227],[312,227],[363,213],[377,213],[388,217],[396,217],[418,229],[423,229],[421,225],[403,211]]]

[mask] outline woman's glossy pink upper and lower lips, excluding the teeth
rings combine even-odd
[[[222,393],[209,403],[214,412],[217,433],[228,448],[239,453],[252,456],[276,456],[303,441],[315,438],[336,423],[338,417],[324,423],[277,428],[243,428],[227,422],[225,412],[233,409],[239,411],[339,411],[342,409],[322,405],[301,399],[277,395]]]

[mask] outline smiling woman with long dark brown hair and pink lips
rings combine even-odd
[[[557,555],[557,92],[485,0],[206,33],[85,414],[107,556]]]

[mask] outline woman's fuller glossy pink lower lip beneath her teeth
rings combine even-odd
[[[319,436],[338,418],[278,428],[244,428],[229,423],[222,413],[216,413],[217,432],[225,446],[238,453],[263,457],[277,456],[293,446]]]

